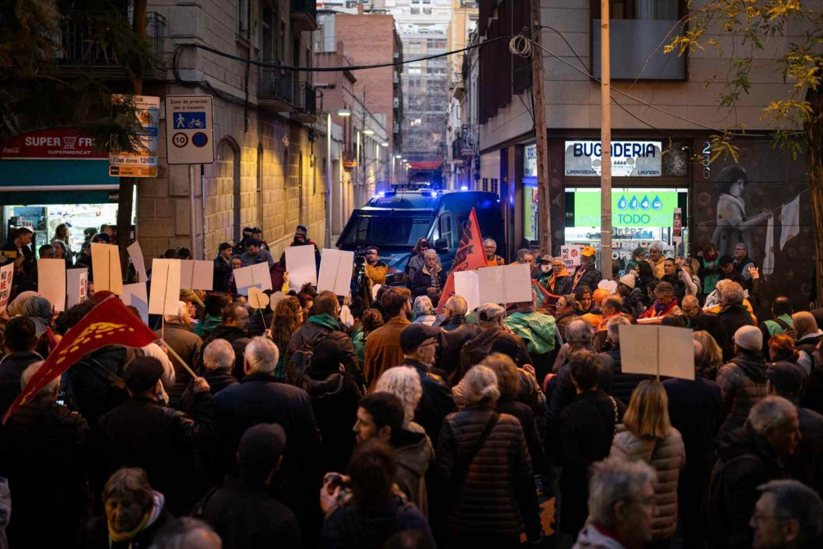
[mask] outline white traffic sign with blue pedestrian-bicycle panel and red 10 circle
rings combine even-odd
[[[166,95],[166,161],[212,164],[214,132],[212,95]]]

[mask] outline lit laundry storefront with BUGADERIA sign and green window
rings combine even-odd
[[[665,154],[663,152],[665,151]],[[615,137],[611,143],[612,258],[621,265],[638,247],[663,242],[667,255],[688,254],[690,142]],[[555,138],[552,156],[553,241],[600,248],[602,148],[591,138]],[[672,241],[681,209],[685,244]],[[562,216],[562,218],[560,218]],[[562,230],[559,229],[562,227]],[[683,249],[683,245],[686,249]]]

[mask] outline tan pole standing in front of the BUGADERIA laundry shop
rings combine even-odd
[[[609,0],[600,0],[600,273],[611,280],[611,58]]]

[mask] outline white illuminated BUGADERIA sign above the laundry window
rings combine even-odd
[[[660,177],[663,174],[661,147],[662,143],[659,141],[612,142],[612,177]],[[601,156],[599,141],[565,142],[565,175],[599,177]]]

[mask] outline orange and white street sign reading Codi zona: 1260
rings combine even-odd
[[[114,94],[112,103],[123,103],[126,96]],[[160,125],[160,97],[134,95],[137,119],[142,124],[137,151],[109,151],[109,175],[112,177],[157,177],[157,137]]]

